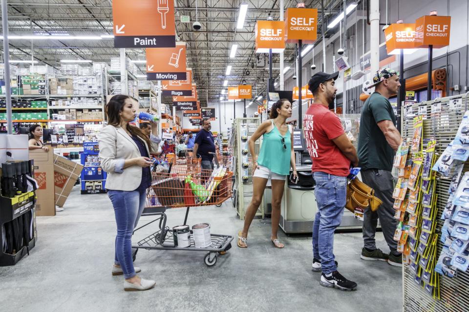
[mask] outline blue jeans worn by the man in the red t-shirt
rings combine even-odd
[[[334,263],[334,231],[341,224],[347,192],[347,178],[323,172],[313,174],[318,213],[313,224],[313,255],[321,260],[322,273],[337,271]]]

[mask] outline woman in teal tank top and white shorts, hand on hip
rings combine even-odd
[[[253,222],[264,194],[267,181],[272,182],[272,243],[277,248],[284,245],[278,241],[277,231],[280,221],[280,206],[283,197],[285,178],[293,168],[293,175],[297,176],[295,167],[295,153],[293,152],[293,131],[286,124],[287,118],[292,117],[292,104],[285,98],[272,105],[270,119],[264,121],[256,132],[249,138],[249,150],[253,157],[253,199],[244,216],[244,228],[238,233],[237,245],[246,248],[246,238],[249,227]],[[259,157],[256,160],[254,143],[263,136]]]

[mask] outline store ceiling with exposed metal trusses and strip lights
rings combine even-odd
[[[197,20],[202,24],[200,31],[192,29],[196,20],[194,0],[175,0],[176,33],[179,40],[187,42],[187,66],[192,67],[199,99],[218,101],[223,81],[229,85],[241,84],[246,80],[253,85],[253,95],[265,90],[268,78],[266,55],[256,55],[254,28],[256,20],[266,20],[269,14],[279,19],[279,0],[250,0],[244,28],[236,29],[240,0],[196,0]],[[306,0],[306,7],[319,8],[321,25],[321,1]],[[340,12],[342,0],[324,0],[326,19]],[[295,7],[297,1],[285,0],[285,8]],[[190,23],[180,21],[182,15],[189,16]],[[8,1],[9,35],[69,34],[72,36],[112,35],[111,0],[11,0]],[[320,37],[320,36],[318,36]],[[233,43],[238,44],[235,59],[230,59]],[[61,59],[91,59],[109,63],[110,58],[119,56],[113,39],[102,40],[10,40],[11,59],[30,59],[31,45],[34,58],[56,68]],[[294,45],[287,44],[285,63],[293,62]],[[144,49],[126,49],[130,59],[145,59]],[[2,54],[3,55],[3,54]],[[278,62],[278,56],[274,63]],[[254,63],[254,68],[253,68]],[[225,77],[228,64],[233,65],[231,75]],[[139,65],[145,74],[145,64]],[[249,71],[247,75],[246,70]],[[279,71],[274,70],[274,78]]]

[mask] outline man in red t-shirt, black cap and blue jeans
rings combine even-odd
[[[313,224],[313,271],[322,271],[320,284],[341,290],[355,290],[352,282],[337,271],[334,231],[341,224],[350,163],[358,164],[357,151],[345,135],[341,120],[329,110],[334,103],[339,73],[315,74],[308,83],[314,103],[306,111],[303,129],[306,147],[313,161],[314,194],[318,213]]]

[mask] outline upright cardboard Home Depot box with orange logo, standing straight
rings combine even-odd
[[[53,149],[49,148],[47,153],[42,149],[29,150],[29,159],[34,160],[34,178],[39,186],[36,190],[36,215],[55,215]]]

